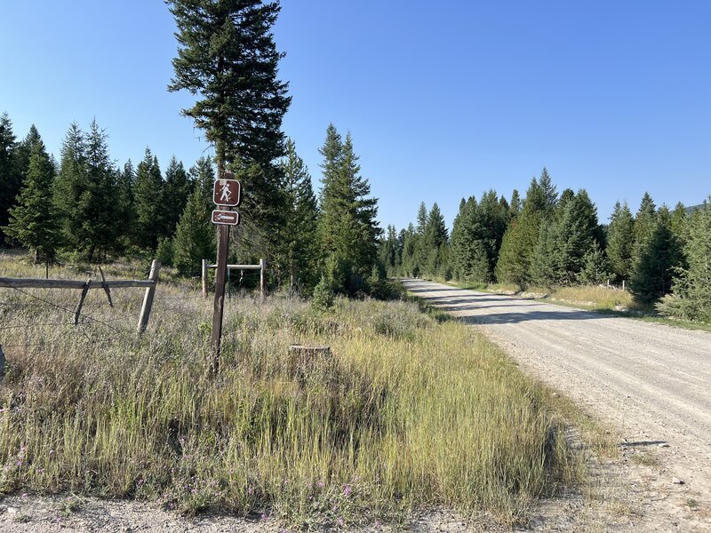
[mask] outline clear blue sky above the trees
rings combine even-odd
[[[614,202],[711,193],[711,2],[284,0],[275,27],[292,107],[284,131],[318,185],[328,123],[351,131],[383,227],[463,196],[558,190]],[[165,90],[174,24],[158,0],[0,0],[0,112],[58,158],[96,116],[111,156],[164,169],[209,147]]]

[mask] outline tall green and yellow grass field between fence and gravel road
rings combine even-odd
[[[78,298],[28,293],[70,310]],[[292,298],[229,299],[213,376],[212,301],[159,285],[136,338],[142,290],[112,296],[115,309],[90,291],[85,313],[100,322],[74,328],[71,314],[0,290],[13,304],[0,306],[0,493],[133,497],[320,529],[433,506],[521,522],[581,479],[547,391],[474,329],[416,304],[338,299],[322,314]],[[332,357],[297,364],[291,344]]]

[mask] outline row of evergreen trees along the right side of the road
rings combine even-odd
[[[616,203],[600,224],[585,189],[558,194],[547,170],[523,198],[490,190],[462,199],[451,234],[439,206],[416,224],[387,227],[379,256],[389,275],[547,288],[625,282],[643,306],[711,320],[711,206],[670,211],[644,194],[635,214]]]

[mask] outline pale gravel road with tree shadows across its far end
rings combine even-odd
[[[536,378],[610,423],[621,448],[650,454],[648,472],[630,473],[645,483],[634,489],[649,530],[711,531],[711,334],[433,282],[404,284],[476,324]]]

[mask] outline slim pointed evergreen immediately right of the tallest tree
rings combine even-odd
[[[311,175],[292,139],[286,140],[281,166],[289,199],[283,233],[289,284],[292,290],[303,288],[310,292],[318,281],[318,206]]]

